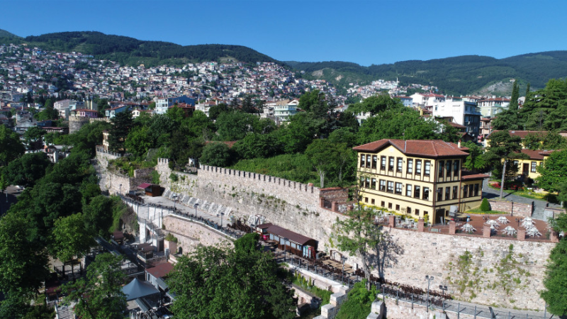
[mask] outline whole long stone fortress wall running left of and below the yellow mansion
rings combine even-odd
[[[167,159],[159,159],[156,169],[166,191],[228,207],[230,215],[237,218],[260,214],[266,223],[318,240],[320,251],[335,250],[332,225],[345,217],[321,207],[325,189],[206,165],[198,174],[173,172],[178,175],[174,182],[169,178],[172,170]],[[181,233],[182,228],[176,226],[176,232]],[[435,277],[432,287],[447,285],[447,292],[459,300],[507,308],[544,308],[538,292],[544,288],[545,265],[555,245],[552,242],[385,230],[390,248],[382,271],[389,281],[427,289],[425,275],[430,275]],[[356,268],[360,262],[349,257],[347,264]]]

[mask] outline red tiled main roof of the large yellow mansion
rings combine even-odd
[[[386,145],[403,152],[405,155],[417,155],[427,157],[444,157],[444,156],[468,156],[464,152],[464,148],[460,148],[451,142],[443,140],[377,140],[364,145],[353,147],[358,152],[376,152]]]

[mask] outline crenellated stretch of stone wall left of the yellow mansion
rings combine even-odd
[[[329,252],[332,225],[344,216],[320,207],[320,191],[279,177],[202,165],[193,196],[231,207],[236,218],[262,215],[266,222],[318,240],[318,250]]]

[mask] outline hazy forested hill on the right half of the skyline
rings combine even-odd
[[[431,84],[445,94],[473,94],[498,82],[518,79],[523,86],[542,88],[549,79],[567,77],[567,51],[517,55],[505,59],[465,55],[436,60],[412,60],[389,65],[363,67],[349,62],[285,62],[305,71],[305,77],[320,78],[338,84],[395,80],[403,84]],[[505,90],[511,89],[505,86]]]

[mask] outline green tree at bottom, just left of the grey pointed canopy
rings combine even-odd
[[[126,297],[122,292],[125,281],[120,271],[123,257],[110,253],[96,255],[86,269],[86,278],[62,286],[65,301],[77,301],[74,312],[86,319],[122,319]]]

